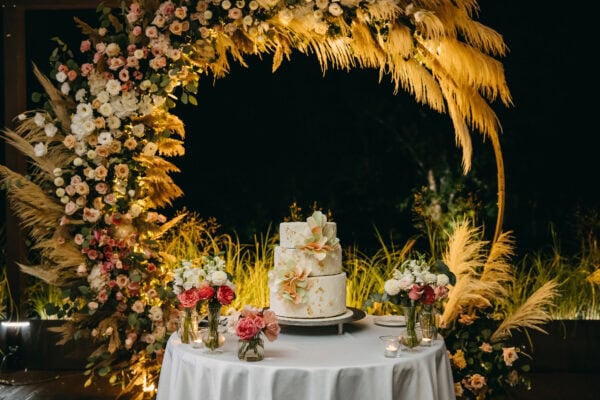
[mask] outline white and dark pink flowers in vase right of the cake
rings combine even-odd
[[[381,301],[402,306],[420,302],[430,306],[445,299],[448,284],[455,282],[456,278],[443,263],[439,262],[436,268],[445,272],[433,273],[424,256],[405,260],[399,268],[394,269],[392,278],[385,281]]]

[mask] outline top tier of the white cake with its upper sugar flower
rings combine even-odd
[[[335,222],[315,211],[306,222],[282,222],[279,225],[279,245],[288,249],[328,251],[339,246]]]

